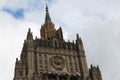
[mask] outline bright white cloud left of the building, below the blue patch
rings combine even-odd
[[[8,13],[0,13],[1,80],[13,79],[15,59],[20,57],[27,30],[30,27],[33,35],[39,36],[38,26],[34,22],[19,21]]]

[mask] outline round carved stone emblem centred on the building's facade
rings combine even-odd
[[[53,56],[51,64],[55,69],[62,70],[65,67],[65,60],[62,56]]]

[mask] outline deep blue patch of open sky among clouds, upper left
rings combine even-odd
[[[12,10],[9,8],[4,8],[3,11],[11,14],[14,18],[16,19],[23,19],[24,18],[24,9],[17,9],[17,10]]]

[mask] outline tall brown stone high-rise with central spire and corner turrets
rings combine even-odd
[[[99,66],[88,69],[79,35],[75,41],[66,42],[62,28],[55,28],[47,6],[40,36],[34,39],[28,30],[13,80],[102,80]]]

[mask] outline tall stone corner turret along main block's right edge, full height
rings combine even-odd
[[[76,34],[76,37],[77,37],[76,49],[77,49],[81,74],[83,75],[82,77],[84,80],[89,80],[89,70],[87,66],[87,60],[86,60],[85,51],[83,48],[83,43],[78,34]]]

